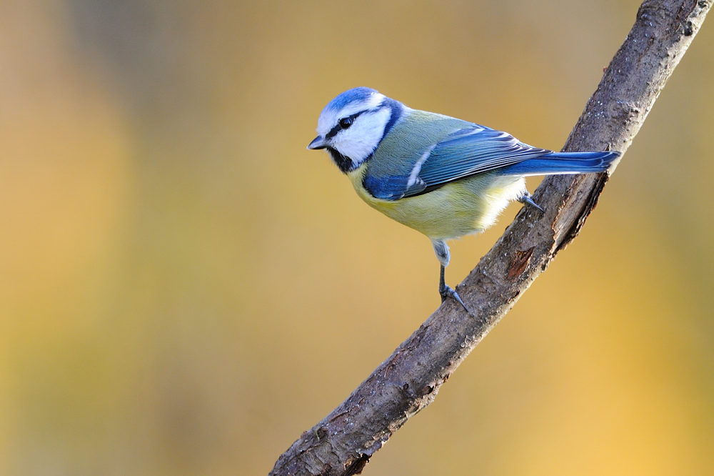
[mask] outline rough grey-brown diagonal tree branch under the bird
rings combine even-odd
[[[645,0],[563,151],[625,152],[700,29],[712,0]],[[614,169],[613,169],[614,170]],[[610,170],[610,174],[613,172]],[[608,174],[548,177],[458,286],[470,317],[447,299],[340,406],[276,462],[271,475],[356,475],[580,232]]]

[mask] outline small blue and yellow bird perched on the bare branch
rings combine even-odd
[[[553,152],[506,132],[411,109],[374,89],[358,87],[330,101],[308,149],[327,149],[370,207],[425,234],[446,286],[447,239],[491,227],[511,200],[538,207],[525,177],[605,172],[619,152]],[[468,309],[466,309],[468,312]]]

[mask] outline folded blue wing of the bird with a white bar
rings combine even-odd
[[[364,185],[376,198],[396,200],[550,152],[523,144],[506,132],[473,124],[473,127],[459,129],[428,147],[408,174],[368,176]]]

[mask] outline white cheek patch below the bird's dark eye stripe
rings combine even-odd
[[[358,166],[377,148],[390,116],[389,109],[359,116],[352,127],[337,134],[333,147]]]

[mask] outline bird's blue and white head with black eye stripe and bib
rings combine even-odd
[[[308,149],[327,149],[342,172],[351,172],[371,157],[405,109],[374,89],[345,91],[322,110],[319,135]]]

